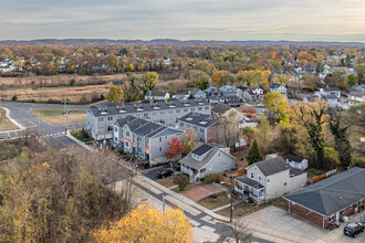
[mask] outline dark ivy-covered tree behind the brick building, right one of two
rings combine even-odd
[[[335,123],[330,123],[330,129],[335,139],[335,147],[338,151],[338,159],[341,166],[346,169],[351,163],[351,142],[348,141],[348,133],[347,129],[351,126],[341,126],[341,118],[338,118]]]

